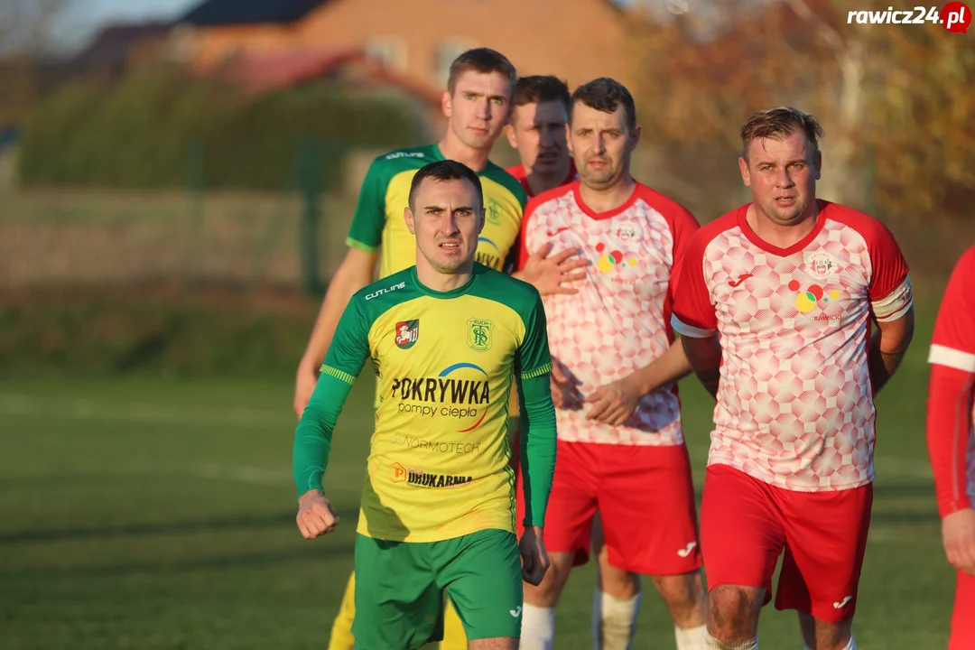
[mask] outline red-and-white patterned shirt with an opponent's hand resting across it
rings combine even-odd
[[[554,251],[579,249],[590,260],[586,280],[572,285],[578,293],[543,298],[552,362],[571,385],[566,407],[556,409],[560,440],[683,444],[676,384],[644,396],[620,426],[587,420],[592,405],[583,400],[649,365],[674,341],[671,279],[698,227],[689,211],[641,183],[624,205],[604,213],[586,207],[578,180],[528,203],[522,265],[547,242]]]

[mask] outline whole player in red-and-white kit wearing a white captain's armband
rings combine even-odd
[[[914,331],[908,265],[878,220],[816,198],[815,118],[770,108],[741,135],[753,202],[694,236],[673,316],[718,401],[701,504],[709,647],[758,648],[784,551],[775,607],[799,610],[807,648],[849,650],[874,397]]]

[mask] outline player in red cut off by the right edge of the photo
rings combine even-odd
[[[949,650],[975,648],[975,246],[948,282],[928,355],[927,448],[957,573]]]

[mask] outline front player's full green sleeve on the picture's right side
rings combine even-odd
[[[522,424],[522,476],[525,485],[526,526],[545,522],[552,477],[555,475],[556,425],[555,404],[549,373],[548,329],[541,296],[526,318],[525,340],[518,350],[516,369],[519,373]]]

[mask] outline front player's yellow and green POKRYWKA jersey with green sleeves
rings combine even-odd
[[[516,378],[525,395],[523,472],[535,491],[526,519],[541,525],[555,411],[545,311],[534,287],[475,264],[463,287],[434,291],[412,266],[356,293],[298,425],[299,495],[321,488],[331,427],[367,360],[380,401],[361,534],[432,542],[486,529],[515,532],[508,404]]]

